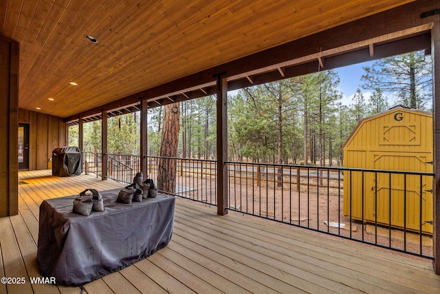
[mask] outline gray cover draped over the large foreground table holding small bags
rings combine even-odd
[[[104,211],[72,212],[76,196],[40,205],[37,260],[56,284],[83,285],[124,269],[171,240],[175,198],[157,195],[142,202],[116,202],[120,189],[101,191]]]

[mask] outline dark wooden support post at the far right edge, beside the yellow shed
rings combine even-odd
[[[432,54],[432,109],[434,114],[434,189],[432,196],[434,213],[434,271],[440,275],[440,21],[433,24],[431,31]]]

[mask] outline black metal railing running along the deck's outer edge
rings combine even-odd
[[[100,174],[100,156],[86,158],[89,171]],[[131,183],[140,171],[140,156],[107,154],[107,160],[113,180]],[[159,192],[217,205],[216,160],[148,156],[155,182],[160,160],[175,166],[176,178],[175,189]],[[433,258],[432,172],[226,164],[230,210]]]

